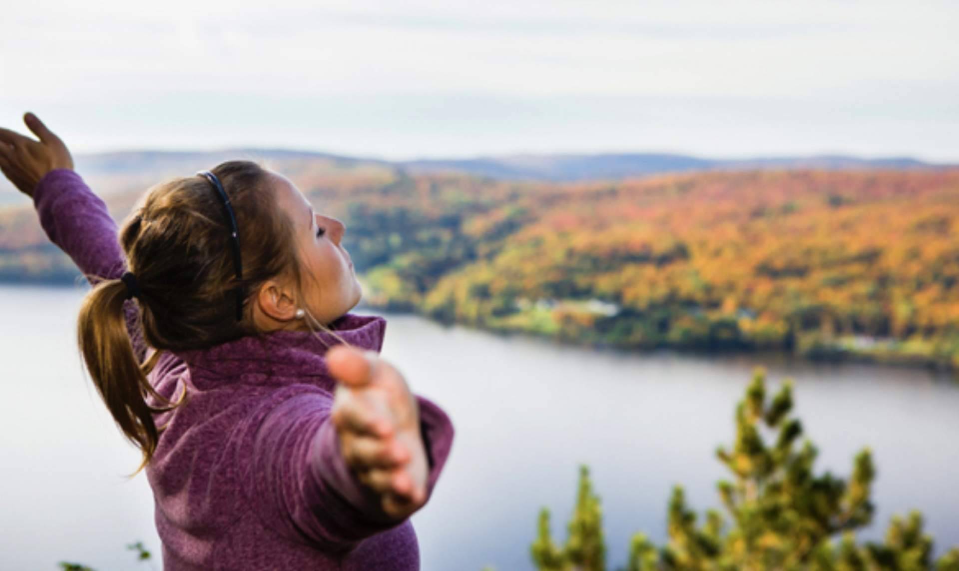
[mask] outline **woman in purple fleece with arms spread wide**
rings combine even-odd
[[[146,194],[120,228],[57,135],[0,129],[0,171],[94,285],[83,359],[143,451],[164,569],[417,569],[409,515],[453,427],[377,353],[345,227],[229,161]]]

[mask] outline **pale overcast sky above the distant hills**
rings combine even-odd
[[[959,2],[6,2],[0,125],[77,152],[959,162]]]

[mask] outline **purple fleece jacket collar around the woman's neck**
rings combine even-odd
[[[386,320],[380,316],[347,313],[329,324],[329,329],[349,345],[380,352]],[[331,389],[335,385],[326,369],[324,355],[341,345],[326,331],[273,331],[241,337],[205,349],[175,351],[191,371],[199,389],[221,383],[285,385],[290,379]]]

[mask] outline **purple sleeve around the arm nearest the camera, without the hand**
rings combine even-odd
[[[453,425],[439,407],[416,398],[430,466],[429,499],[450,454]],[[387,516],[378,494],[343,460],[331,406],[326,394],[300,394],[264,418],[253,444],[251,491],[268,527],[323,550],[346,552],[405,520]]]

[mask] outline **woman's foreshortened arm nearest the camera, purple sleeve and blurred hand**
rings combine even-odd
[[[259,424],[250,492],[269,527],[346,551],[426,504],[453,425],[374,354],[338,345],[327,366],[335,398],[296,394]]]

